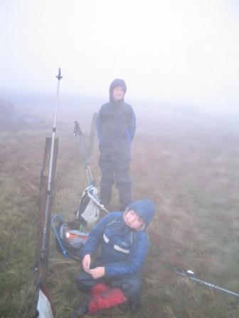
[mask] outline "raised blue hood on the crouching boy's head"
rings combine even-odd
[[[156,206],[151,199],[142,199],[129,204],[128,208],[136,212],[145,222],[145,227],[152,221]]]

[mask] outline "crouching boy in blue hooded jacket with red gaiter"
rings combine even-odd
[[[154,202],[142,199],[129,204],[125,212],[108,214],[92,229],[83,248],[84,271],[76,278],[80,291],[90,297],[75,310],[73,318],[123,302],[137,304],[150,245],[146,228],[154,212]],[[101,245],[100,257],[92,261]]]

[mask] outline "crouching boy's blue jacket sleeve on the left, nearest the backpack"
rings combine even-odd
[[[115,214],[110,213],[107,214],[105,217],[103,217],[99,223],[97,223],[92,230],[90,231],[90,234],[87,238],[87,241],[84,245],[83,252],[81,255],[84,257],[86,254],[90,254],[91,256],[97,251],[97,248],[102,243],[103,234],[105,232],[105,227],[107,224],[110,223],[115,219]]]

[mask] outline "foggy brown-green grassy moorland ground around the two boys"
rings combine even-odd
[[[51,136],[48,132],[51,132],[51,124],[0,133],[1,244],[4,246],[1,259],[4,264],[6,255],[11,260],[16,258],[11,252],[18,248],[16,241],[33,229],[29,219],[36,213],[44,142],[46,135]],[[175,273],[179,268],[191,269],[197,278],[239,292],[238,135],[235,126],[219,122],[213,125],[181,119],[171,122],[160,120],[160,116],[147,123],[139,120],[132,145],[134,199],[150,197],[157,206],[149,226],[152,249],[144,268],[142,304],[137,314],[119,307],[96,317],[239,317],[238,298],[197,285]],[[74,153],[71,124],[59,124],[58,136],[60,170]],[[92,170],[98,185],[97,147]],[[112,206],[118,207],[116,191]],[[14,236],[9,234],[13,228]],[[13,243],[7,245],[9,238]],[[34,240],[30,239],[31,236],[26,245],[30,242],[31,248],[23,248],[21,256],[17,256],[24,266],[30,266],[31,258],[33,260]],[[47,285],[55,317],[67,318],[83,298],[74,283],[81,267],[60,256],[54,241],[51,246]],[[28,260],[27,264],[24,259]],[[12,261],[7,273],[14,279],[22,273],[19,268],[16,270],[15,263]],[[11,295],[6,281],[2,278],[4,293],[1,294],[7,298]],[[23,285],[23,279],[18,278],[18,291]],[[15,317],[13,307],[14,300],[11,306],[1,309],[1,317]]]

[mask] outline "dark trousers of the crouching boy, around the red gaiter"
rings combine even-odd
[[[91,268],[103,265],[104,264],[101,261],[95,261]],[[124,292],[124,295],[129,302],[134,302],[139,298],[142,286],[142,279],[139,273],[118,275],[113,278],[106,278],[103,276],[102,278],[95,279],[83,270],[83,272],[76,277],[76,284],[82,292],[90,292],[92,287],[102,282],[112,288],[119,287]]]

